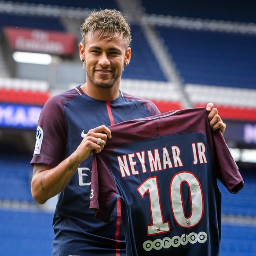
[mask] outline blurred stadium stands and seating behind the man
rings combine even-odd
[[[218,107],[245,180],[236,195],[219,184],[220,256],[256,255],[256,1],[20,0],[0,1],[0,256],[51,255],[55,198],[38,205],[30,193],[37,120],[51,95],[84,84],[79,28],[104,8],[132,26],[123,91],[162,112]]]

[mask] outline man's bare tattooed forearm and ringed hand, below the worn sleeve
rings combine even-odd
[[[99,126],[91,129],[73,154],[55,168],[35,163],[31,181],[31,192],[35,201],[44,204],[49,198],[59,194],[74,175],[80,163],[87,159],[93,150],[99,153],[104,148],[107,137],[111,138],[110,129],[105,125]],[[102,139],[99,145],[97,144],[98,138]]]

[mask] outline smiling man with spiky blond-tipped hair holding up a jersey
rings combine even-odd
[[[120,205],[111,222],[95,219],[89,209],[92,152],[111,138],[107,126],[159,114],[150,101],[119,90],[131,59],[131,33],[120,12],[92,13],[81,26],[80,60],[86,83],[46,102],[38,121],[31,191],[44,204],[58,194],[53,219],[52,255],[125,255]],[[212,130],[226,125],[209,103]]]

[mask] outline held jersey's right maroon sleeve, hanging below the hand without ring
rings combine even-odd
[[[244,181],[220,130],[212,132],[216,149],[217,176],[230,193],[236,194]]]

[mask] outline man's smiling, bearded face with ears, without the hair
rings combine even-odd
[[[91,33],[80,44],[80,58],[84,59],[87,86],[119,88],[124,62],[131,58],[131,48],[121,36],[111,39]]]

